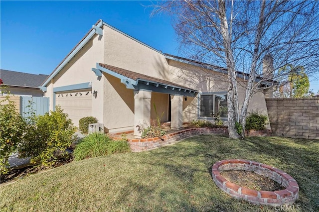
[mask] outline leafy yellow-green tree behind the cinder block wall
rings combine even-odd
[[[293,66],[288,64],[279,69],[279,71],[290,70],[290,74],[285,80],[282,80],[274,93],[278,98],[302,98],[312,96],[309,91],[310,83],[303,66]]]

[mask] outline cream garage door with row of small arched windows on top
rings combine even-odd
[[[92,90],[56,93],[55,105],[60,105],[69,114],[75,126],[80,118],[92,115]]]

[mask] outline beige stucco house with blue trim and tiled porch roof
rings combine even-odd
[[[238,78],[245,83],[243,73]],[[106,132],[134,130],[140,137],[139,126],[149,125],[157,114],[171,121],[172,129],[192,119],[210,120],[218,111],[227,124],[227,70],[164,54],[102,20],[41,89],[50,109],[60,105],[75,125],[81,117],[95,116]],[[239,88],[240,102],[244,93]],[[252,97],[252,109],[267,114],[264,93]]]

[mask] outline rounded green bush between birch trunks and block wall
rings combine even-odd
[[[246,129],[263,130],[268,123],[267,115],[259,114],[258,111],[248,112],[246,118]]]

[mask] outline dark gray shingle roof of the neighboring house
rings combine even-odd
[[[4,85],[38,88],[48,75],[29,74],[16,71],[0,70],[0,77]]]

